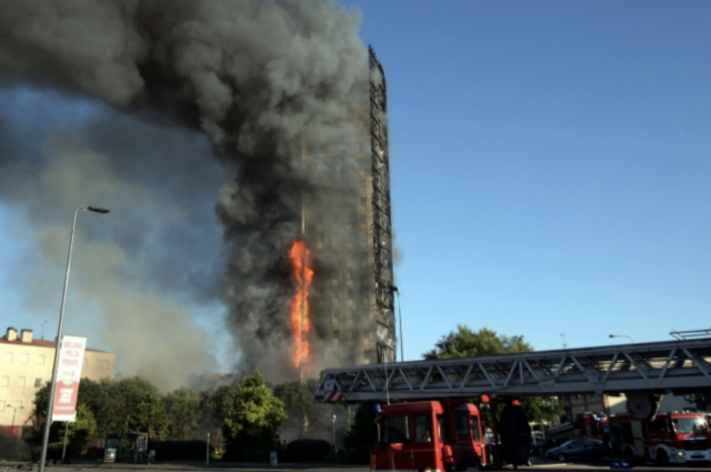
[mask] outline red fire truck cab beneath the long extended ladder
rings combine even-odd
[[[479,409],[459,401],[401,403],[381,408],[371,471],[433,472],[487,463]]]

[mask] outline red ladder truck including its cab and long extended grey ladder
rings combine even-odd
[[[520,399],[582,393],[623,394],[639,420],[654,418],[663,394],[693,395],[705,409],[711,338],[326,369],[314,402],[381,405],[372,471],[450,472],[489,463],[468,399],[491,404],[495,465],[517,466],[528,463],[531,443]],[[504,404],[498,421],[497,403]]]

